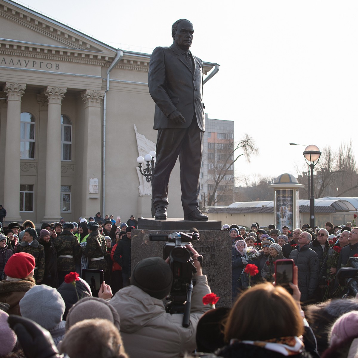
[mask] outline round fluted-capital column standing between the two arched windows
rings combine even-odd
[[[45,216],[43,222],[61,218],[61,102],[66,93],[63,87],[47,87],[48,99],[46,139]]]

